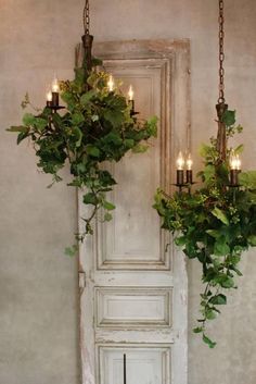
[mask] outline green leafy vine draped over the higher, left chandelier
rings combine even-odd
[[[104,162],[118,162],[129,150],[143,152],[148,149],[145,140],[156,136],[157,117],[137,120],[118,87],[108,90],[107,80],[108,75],[95,67],[90,72],[86,65],[75,69],[75,79],[61,83],[65,112],[46,107],[38,115],[26,113],[22,125],[8,129],[18,134],[17,144],[24,139],[33,143],[37,165],[52,174],[52,184],[62,181],[59,172],[69,163],[73,179],[68,185],[86,190],[84,203],[92,208],[87,218],[81,218],[85,230],[76,234],[78,241],[93,233],[92,220],[99,210],[102,220],[110,221],[115,209],[106,194],[116,181]],[[22,103],[23,108],[27,106],[31,106],[28,95]],[[69,256],[76,251],[77,244],[65,250]]]

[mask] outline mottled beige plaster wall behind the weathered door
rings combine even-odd
[[[243,165],[256,168],[256,2],[226,0],[226,95],[245,132]],[[192,143],[216,132],[217,0],[92,0],[97,40],[191,39]],[[48,190],[26,144],[16,147],[4,128],[18,123],[26,90],[35,103],[57,70],[72,75],[81,34],[78,0],[0,0],[0,383],[77,384],[76,261],[62,255],[76,226],[73,190]],[[195,156],[194,156],[195,157]],[[196,163],[199,166],[199,163]],[[208,350],[189,336],[189,384],[256,381],[255,252],[243,260],[244,277],[215,322]],[[197,314],[200,271],[189,265],[190,323]],[[218,327],[218,329],[217,329]]]

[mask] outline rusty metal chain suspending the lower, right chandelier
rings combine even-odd
[[[225,52],[223,52],[223,0],[219,0],[219,98],[218,103],[225,103]]]

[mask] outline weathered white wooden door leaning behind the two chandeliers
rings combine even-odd
[[[82,384],[123,384],[124,355],[127,384],[187,384],[184,258],[152,205],[158,186],[170,191],[175,156],[189,145],[189,44],[106,42],[95,53],[124,90],[132,84],[140,117],[161,122],[146,153],[111,165],[114,219],[80,248]]]

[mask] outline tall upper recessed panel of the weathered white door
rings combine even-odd
[[[105,61],[105,67],[124,83],[124,92],[132,84],[139,119],[161,115],[161,98],[164,97],[161,84],[167,82],[165,60],[110,60]],[[129,153],[112,165],[118,185],[110,198],[118,209],[113,221],[99,224],[100,269],[169,269],[170,251],[165,252],[167,239],[152,209],[153,196],[165,174],[163,158],[166,156],[159,135],[151,140],[143,156]]]

